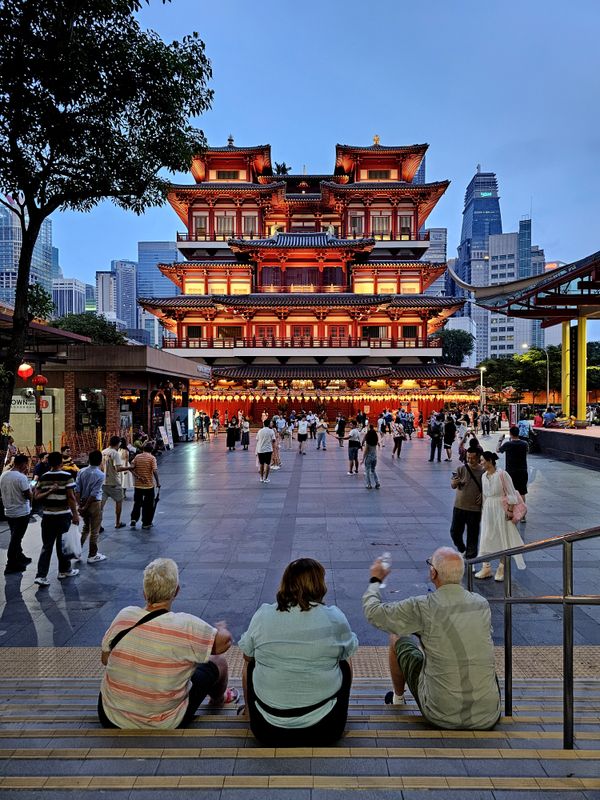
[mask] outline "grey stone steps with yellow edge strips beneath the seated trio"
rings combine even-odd
[[[234,710],[205,706],[187,730],[103,730],[98,686],[97,678],[0,680],[3,798],[600,797],[600,680],[576,681],[572,751],[562,750],[558,680],[515,681],[514,716],[493,731],[464,732],[430,728],[412,701],[385,706],[387,681],[359,679],[339,746],[296,749],[262,748]]]

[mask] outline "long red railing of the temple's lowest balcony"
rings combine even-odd
[[[428,339],[376,339],[376,338],[354,338],[345,337],[324,337],[313,336],[292,337],[289,339],[279,339],[277,337],[253,336],[246,338],[183,338],[183,339],[163,339],[163,348],[166,350],[237,350],[237,349],[268,349],[279,350],[285,348],[330,348],[344,350],[417,350],[417,349],[438,349],[441,348],[442,341],[439,338]]]

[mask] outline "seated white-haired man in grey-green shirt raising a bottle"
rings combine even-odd
[[[385,702],[403,705],[408,683],[432,725],[488,730],[500,717],[490,606],[462,587],[465,564],[456,550],[440,547],[427,565],[436,591],[398,603],[381,602],[381,582],[390,570],[381,559],[371,566],[362,602],[367,620],[390,634],[394,690]]]

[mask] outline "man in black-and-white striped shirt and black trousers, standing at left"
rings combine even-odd
[[[38,586],[50,585],[48,570],[54,547],[58,558],[59,580],[79,575],[79,570],[71,568],[71,559],[64,556],[62,551],[63,533],[69,530],[71,523],[79,525],[75,480],[70,472],[61,469],[62,460],[62,453],[48,455],[50,469],[40,476],[35,489],[34,499],[42,501],[42,552],[35,578]]]

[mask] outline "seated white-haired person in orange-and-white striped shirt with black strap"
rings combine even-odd
[[[146,607],[120,611],[102,639],[106,672],[98,698],[105,728],[181,728],[192,721],[206,695],[216,706],[233,705],[221,655],[232,636],[192,614],[171,611],[179,571],[170,558],[144,570]]]

